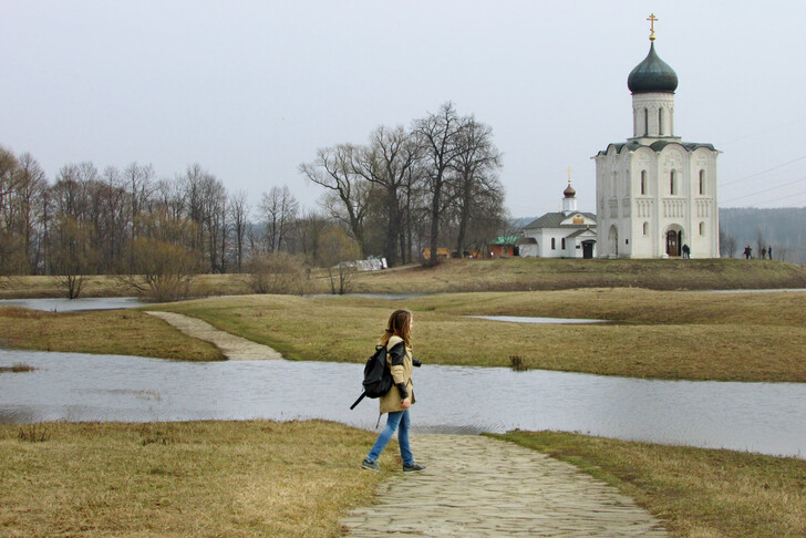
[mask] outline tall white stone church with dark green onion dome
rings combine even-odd
[[[630,73],[632,137],[596,161],[599,258],[719,258],[716,157],[712,144],[674,135],[678,75],[654,50]]]

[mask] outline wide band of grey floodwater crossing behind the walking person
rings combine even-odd
[[[372,430],[362,365],[189,363],[0,350],[0,423],[326,418]],[[648,381],[424,365],[415,432],[558,430],[622,439],[806,457],[806,384]]]

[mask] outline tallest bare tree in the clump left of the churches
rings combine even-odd
[[[446,207],[448,169],[462,153],[459,137],[467,123],[456,113],[453,103],[447,102],[440,106],[435,114],[428,114],[422,120],[415,120],[413,133],[423,151],[425,159],[425,180],[430,196],[431,218],[431,257],[428,265],[437,263],[437,248],[440,246],[440,224]]]

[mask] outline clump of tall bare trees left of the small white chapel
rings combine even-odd
[[[410,128],[380,126],[365,145],[326,147],[300,165],[328,189],[328,216],[343,224],[361,251],[380,254],[391,266],[423,248],[480,250],[506,226],[499,169],[492,128],[459,116],[452,103]]]

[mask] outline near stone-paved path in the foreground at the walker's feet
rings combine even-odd
[[[342,519],[348,536],[668,536],[616,488],[513,443],[420,434],[412,451],[427,468],[384,483]]]

